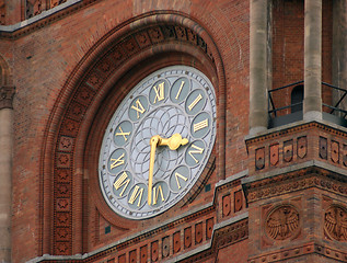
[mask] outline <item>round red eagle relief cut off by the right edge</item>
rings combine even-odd
[[[324,215],[324,231],[329,239],[347,241],[347,208],[332,205]]]

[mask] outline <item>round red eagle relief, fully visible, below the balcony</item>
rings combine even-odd
[[[269,213],[265,221],[265,231],[275,240],[294,237],[299,230],[299,213],[290,205],[282,205]]]

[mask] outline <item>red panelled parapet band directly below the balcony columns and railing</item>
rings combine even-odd
[[[321,123],[302,124],[246,139],[250,174],[308,160],[347,168],[346,133]]]

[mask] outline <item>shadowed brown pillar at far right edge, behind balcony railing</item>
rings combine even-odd
[[[347,2],[346,0],[333,1],[333,84],[347,89]],[[335,105],[342,92],[333,93]],[[347,98],[339,104],[347,110]],[[343,114],[344,115],[344,114]]]

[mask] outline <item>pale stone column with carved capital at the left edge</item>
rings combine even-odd
[[[12,100],[14,87],[0,88],[0,262],[11,262]]]

